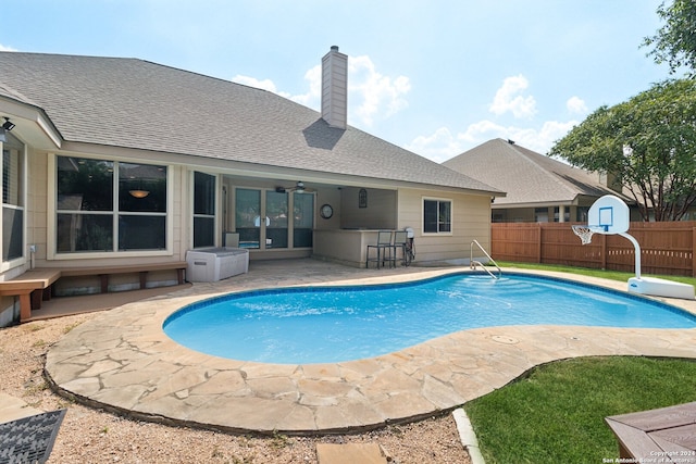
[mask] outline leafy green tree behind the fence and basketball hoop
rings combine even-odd
[[[696,80],[666,80],[599,108],[549,154],[613,176],[644,221],[681,220],[696,202]]]

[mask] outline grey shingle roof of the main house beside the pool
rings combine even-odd
[[[501,193],[270,91],[137,59],[0,52],[1,97],[66,141]]]

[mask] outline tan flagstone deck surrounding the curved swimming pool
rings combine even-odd
[[[234,432],[330,434],[450,411],[556,360],[696,358],[696,329],[492,327],[373,359],[306,365],[201,354],[162,331],[164,319],[178,308],[231,291],[395,283],[452,272],[468,267],[357,269],[314,260],[253,262],[248,274],[128,303],[77,326],[49,350],[47,377],[62,394],[134,418]],[[626,288],[625,283],[588,277],[582,281]],[[660,300],[696,314],[696,301]]]

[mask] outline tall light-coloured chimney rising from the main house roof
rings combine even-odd
[[[348,55],[337,46],[322,58],[322,118],[340,129],[348,124]]]

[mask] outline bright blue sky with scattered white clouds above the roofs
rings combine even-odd
[[[348,55],[348,124],[436,162],[504,138],[547,153],[668,77],[662,0],[15,0],[0,50],[137,58],[320,110]]]

